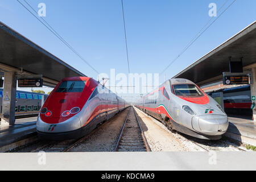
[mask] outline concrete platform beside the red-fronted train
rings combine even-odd
[[[0,126],[0,152],[5,152],[18,147],[27,142],[31,142],[31,137],[35,138],[36,118],[16,119],[15,125]],[[28,139],[30,138],[30,139]]]

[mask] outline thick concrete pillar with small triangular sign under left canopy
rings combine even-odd
[[[2,119],[14,125],[15,123],[15,100],[16,100],[16,78],[14,72],[5,72],[3,82]]]

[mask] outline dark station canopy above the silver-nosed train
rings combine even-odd
[[[186,78],[198,85],[220,81],[222,72],[229,72],[229,57],[231,61],[240,61],[242,57],[243,67],[256,63],[256,21],[173,78]]]

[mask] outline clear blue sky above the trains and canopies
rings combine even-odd
[[[24,5],[23,0],[19,0]],[[26,0],[99,73],[128,73],[121,0]],[[210,3],[227,0],[123,0],[131,73],[160,73],[211,19]],[[232,3],[228,0],[221,11]],[[237,0],[177,59],[159,84],[175,76],[256,19],[255,0]],[[220,15],[220,12],[217,13]],[[217,18],[216,17],[216,18]],[[0,21],[86,76],[98,74],[16,0],[0,0]],[[57,74],[57,73],[56,73]],[[30,88],[31,89],[31,88]],[[29,88],[28,88],[29,90]],[[46,91],[51,89],[45,89]]]

